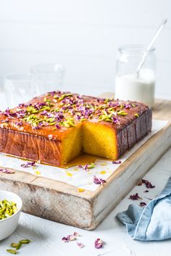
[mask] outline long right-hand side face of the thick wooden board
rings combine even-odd
[[[122,163],[120,168],[107,179],[105,186],[99,187],[93,195],[94,227],[117,205],[125,194],[133,189],[136,183],[159,160],[171,146],[171,124],[165,126],[149,141],[146,141],[131,157]],[[113,196],[112,196],[113,195]],[[101,207],[101,202],[104,202]]]

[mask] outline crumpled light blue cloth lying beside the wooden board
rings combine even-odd
[[[159,197],[151,200],[144,209],[129,205],[128,210],[117,214],[126,225],[128,234],[135,240],[154,241],[171,238],[171,177]]]

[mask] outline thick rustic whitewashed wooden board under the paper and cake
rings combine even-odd
[[[171,101],[157,100],[153,118],[169,120],[169,123],[123,162],[96,191],[80,193],[76,186],[18,170],[10,175],[0,174],[0,189],[20,195],[24,212],[79,228],[96,228],[171,146],[170,110]]]

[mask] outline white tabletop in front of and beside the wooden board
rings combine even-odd
[[[150,156],[149,156],[150,157]],[[143,201],[149,202],[149,197],[153,199],[162,191],[167,178],[171,175],[171,149],[154,165],[146,174],[146,179],[151,181],[156,187],[149,189],[149,193],[143,193],[145,186],[135,186],[132,191],[120,202],[119,205],[107,216],[107,218],[94,231],[85,231],[71,226],[65,226],[60,223],[54,223],[49,220],[34,217],[22,213],[17,231],[8,239],[0,242],[0,255],[9,255],[6,249],[9,244],[19,241],[22,238],[31,239],[33,242],[20,249],[19,255],[25,256],[166,256],[170,255],[171,240],[141,242],[133,241],[128,236],[125,226],[116,218],[117,212],[126,210],[130,203],[128,199],[130,194],[138,192]],[[134,202],[139,204],[138,202]],[[80,249],[77,241],[64,243],[63,236],[78,232],[81,236],[78,241],[85,244]],[[95,249],[94,241],[96,238],[104,240],[104,248]]]

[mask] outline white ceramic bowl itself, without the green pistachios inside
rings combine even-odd
[[[9,218],[0,220],[0,241],[10,236],[17,228],[18,221],[20,218],[20,212],[22,210],[22,199],[9,191],[0,191],[0,201],[7,199],[17,204],[17,212],[15,212]]]

